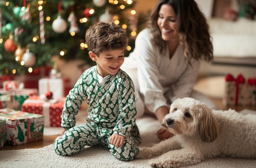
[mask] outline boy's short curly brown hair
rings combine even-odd
[[[99,56],[102,52],[125,50],[128,46],[126,31],[113,22],[98,22],[85,33],[88,50]]]

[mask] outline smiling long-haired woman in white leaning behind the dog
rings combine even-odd
[[[212,60],[212,52],[209,26],[196,2],[160,0],[151,13],[148,28],[138,34],[134,51],[121,67],[139,92],[137,115],[151,113],[162,122],[172,101],[183,97],[216,109],[208,97],[193,90],[199,60]],[[166,128],[157,135],[161,140],[172,137]]]

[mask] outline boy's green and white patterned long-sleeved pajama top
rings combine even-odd
[[[88,97],[87,121],[101,128],[113,129],[114,133],[125,137],[125,133],[135,124],[137,113],[132,80],[119,69],[115,75],[110,74],[101,87],[96,67],[85,70],[75,87],[69,91],[62,111],[61,126],[65,129],[75,126],[79,106]]]

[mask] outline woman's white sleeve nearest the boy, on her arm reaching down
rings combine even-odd
[[[161,106],[169,106],[164,97],[164,88],[159,82],[159,71],[156,65],[159,53],[152,40],[149,31],[143,31],[135,40],[138,54],[138,82],[140,93],[144,97],[148,110],[155,113]]]

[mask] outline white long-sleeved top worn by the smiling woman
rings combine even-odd
[[[128,62],[130,69],[138,70],[140,93],[147,108],[155,113],[159,107],[169,106],[174,99],[190,95],[200,62],[190,58],[191,67],[181,44],[170,59],[167,44],[163,54],[152,39],[150,29],[142,30],[136,37],[133,52],[125,58],[125,62]]]

